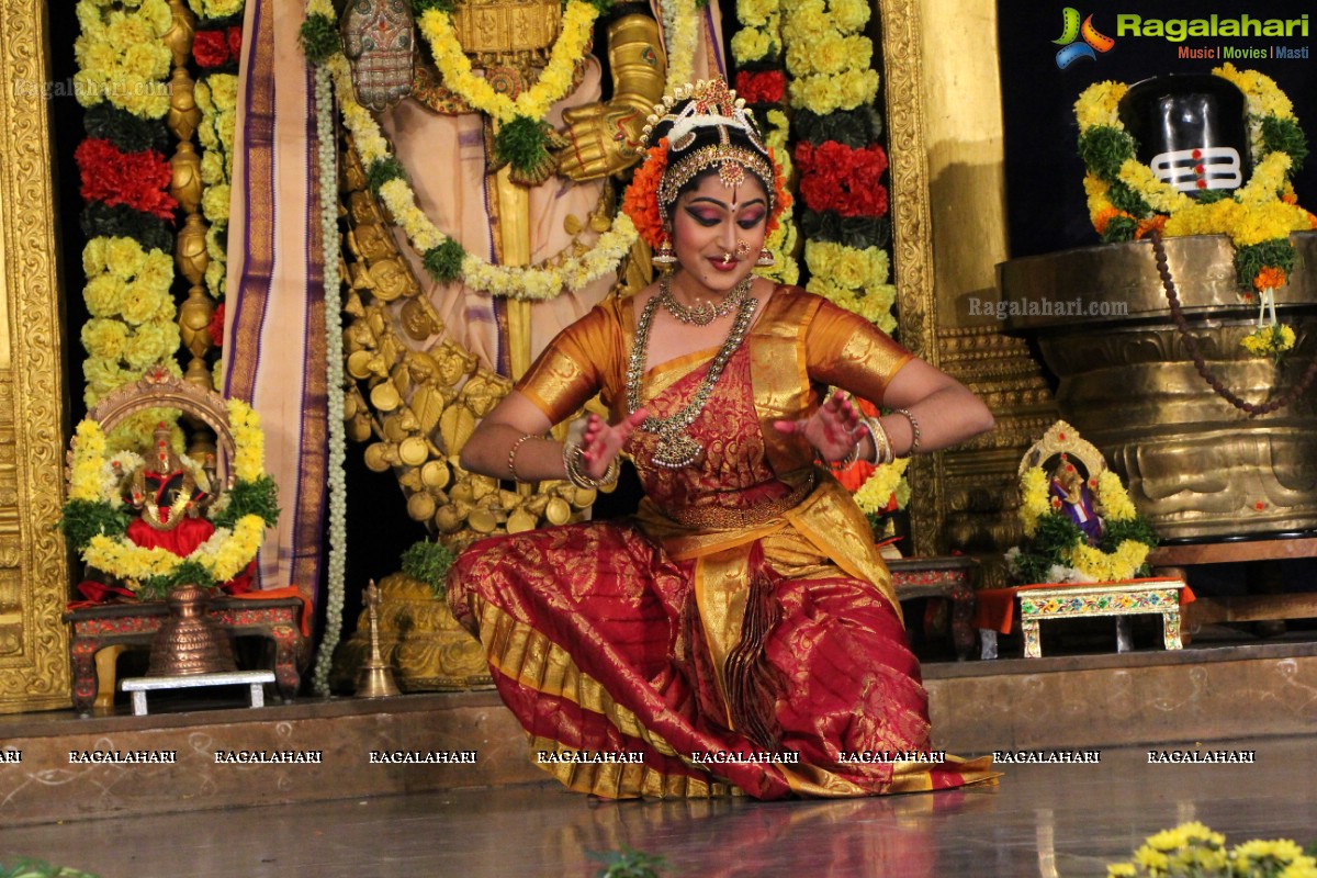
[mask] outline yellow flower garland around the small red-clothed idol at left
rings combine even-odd
[[[265,434],[259,416],[246,403],[228,400],[229,428],[233,432],[233,471],[244,482],[254,482],[265,474]],[[72,448],[68,479],[68,499],[105,500],[122,505],[119,479],[111,461],[105,459],[105,434],[91,419],[78,424]],[[130,458],[129,458],[130,461]],[[141,583],[151,577],[171,574],[183,562],[196,562],[215,577],[216,582],[232,579],[255,558],[265,540],[265,521],[258,515],[245,515],[233,529],[216,528],[211,537],[186,558],[166,550],[148,549],[126,537],[95,536],[82,553],[83,561],[129,583]]]

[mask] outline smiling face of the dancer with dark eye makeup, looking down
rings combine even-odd
[[[716,172],[705,174],[673,205],[673,250],[685,275],[674,286],[724,296],[755,269],[766,234],[768,195],[759,178],[747,172],[727,186]]]

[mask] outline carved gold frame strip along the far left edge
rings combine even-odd
[[[0,625],[21,631],[0,667],[0,712],[14,712],[70,704],[61,620],[68,567],[53,527],[63,498],[65,387],[46,4],[16,0],[0,18],[0,475],[17,507],[0,509],[0,581],[12,584],[0,588]]]

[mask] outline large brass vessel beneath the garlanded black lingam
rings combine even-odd
[[[1258,305],[1241,296],[1223,236],[1166,241],[1189,333],[1225,387],[1260,404],[1317,355],[1317,232],[1292,236],[1276,313],[1296,344],[1277,366],[1241,346]],[[1031,336],[1059,379],[1056,407],[1101,449],[1163,540],[1317,528],[1317,392],[1249,417],[1198,375],[1147,241],[998,266],[1008,329]]]

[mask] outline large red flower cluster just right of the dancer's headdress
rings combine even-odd
[[[818,146],[795,145],[801,171],[801,197],[811,211],[842,216],[885,216],[888,188],[878,180],[888,170],[888,154],[878,145],[851,149],[836,141]]]

